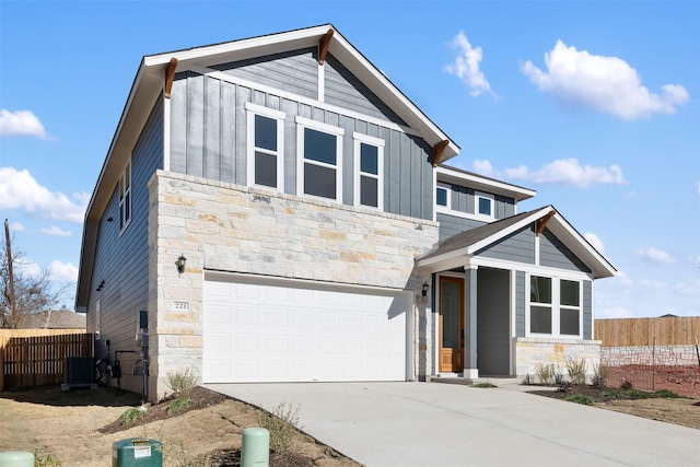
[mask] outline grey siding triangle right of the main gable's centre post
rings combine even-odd
[[[326,57],[325,82],[325,101],[328,104],[405,125],[386,104],[330,54]]]

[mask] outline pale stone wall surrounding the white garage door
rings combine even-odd
[[[206,270],[412,290],[413,370],[431,374],[430,295],[420,293],[431,278],[415,258],[438,243],[436,222],[164,171],[149,189],[150,396],[168,392],[168,372],[201,370]],[[173,301],[190,311],[174,312]]]

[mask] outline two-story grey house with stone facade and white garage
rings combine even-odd
[[[147,56],[85,214],[77,310],[101,352],[139,351],[148,327],[147,354],[121,355],[148,357],[150,399],[186,367],[422,381],[596,361],[593,280],[615,269],[552,207],[517,213],[534,191],[444,165],[458,152],[332,25]]]

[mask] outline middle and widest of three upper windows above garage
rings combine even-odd
[[[296,192],[340,201],[342,128],[296,117]]]

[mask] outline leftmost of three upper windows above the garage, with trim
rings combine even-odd
[[[284,118],[283,112],[246,103],[247,110],[247,179],[249,185],[277,188],[284,184]]]

